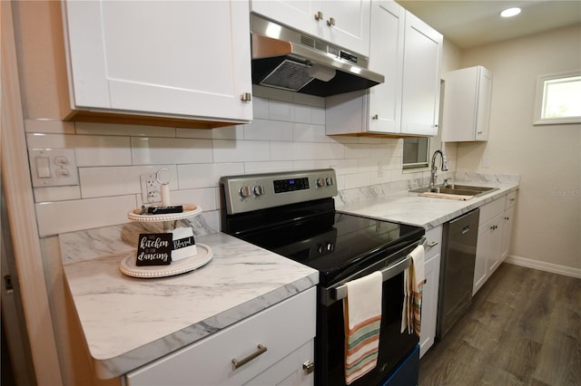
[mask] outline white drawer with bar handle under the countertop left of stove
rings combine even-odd
[[[127,385],[241,385],[250,381],[315,336],[316,293],[312,287],[130,372]],[[257,352],[259,344],[267,351],[232,369],[232,359],[241,362]]]

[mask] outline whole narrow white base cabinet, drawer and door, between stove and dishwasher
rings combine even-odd
[[[419,357],[434,344],[438,320],[439,263],[442,251],[442,226],[426,232],[426,284],[422,291]]]

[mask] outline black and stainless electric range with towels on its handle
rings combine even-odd
[[[336,211],[333,169],[227,176],[220,182],[224,233],[320,273],[316,384],[345,384],[344,284],[378,270],[384,279],[378,365],[351,385],[387,384],[412,355],[417,366],[418,336],[399,331],[403,271],[409,266],[409,253],[425,240],[422,227]],[[408,372],[407,377],[417,378],[417,368]]]

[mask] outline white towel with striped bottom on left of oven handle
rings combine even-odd
[[[343,300],[347,384],[377,365],[382,283],[379,271],[347,283],[347,297]]]

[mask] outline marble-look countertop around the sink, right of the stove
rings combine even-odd
[[[460,182],[458,182],[459,184]],[[448,198],[421,197],[409,191],[392,192],[385,196],[369,198],[365,201],[338,207],[342,212],[374,217],[389,221],[424,227],[426,230],[481,207],[507,193],[517,190],[518,182],[462,181],[462,185],[497,188],[487,195],[466,201]]]

